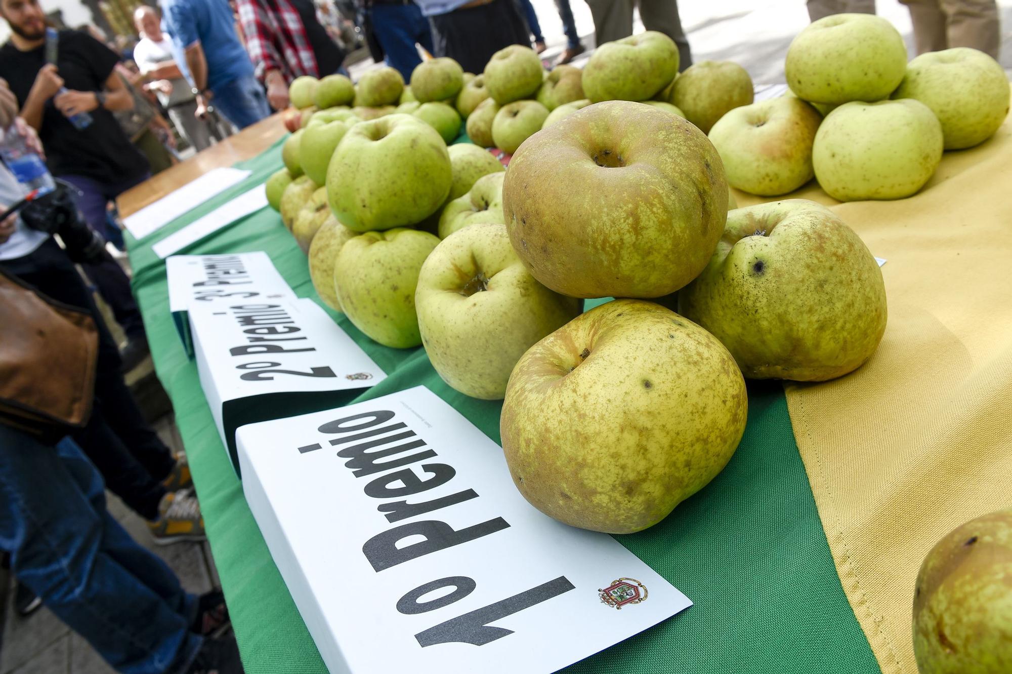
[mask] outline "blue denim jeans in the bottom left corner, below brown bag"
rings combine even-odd
[[[122,674],[176,674],[202,638],[196,597],[105,509],[102,479],[70,440],[0,424],[0,550],[24,586]]]

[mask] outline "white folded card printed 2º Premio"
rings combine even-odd
[[[236,429],[330,409],[386,374],[312,300],[191,305],[197,372],[239,473]]]

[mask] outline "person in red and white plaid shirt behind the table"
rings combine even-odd
[[[342,70],[344,52],[320,24],[313,0],[236,0],[236,9],[254,73],[275,110],[288,106],[297,77]]]

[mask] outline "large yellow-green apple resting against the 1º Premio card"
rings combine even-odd
[[[715,337],[655,303],[615,300],[523,354],[499,429],[532,506],[571,526],[632,533],[724,469],[747,411],[745,381]]]

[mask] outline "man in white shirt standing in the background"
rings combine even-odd
[[[162,32],[158,12],[142,5],[134,12],[134,23],[141,39],[134,48],[134,61],[146,80],[167,80],[168,92],[155,88],[159,102],[166,109],[179,134],[197,152],[210,147],[207,122],[196,116],[196,96],[172,57],[168,35]]]

